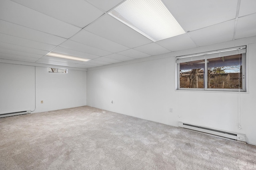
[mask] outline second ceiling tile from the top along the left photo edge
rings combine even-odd
[[[66,41],[66,39],[62,37],[58,37],[56,35],[51,35],[48,33],[23,27],[23,26],[6,22],[3,20],[0,20],[0,33],[12,35],[12,36],[16,36],[24,39],[30,39],[33,41],[38,41],[41,43],[46,43],[51,45],[59,45],[60,43]]]

